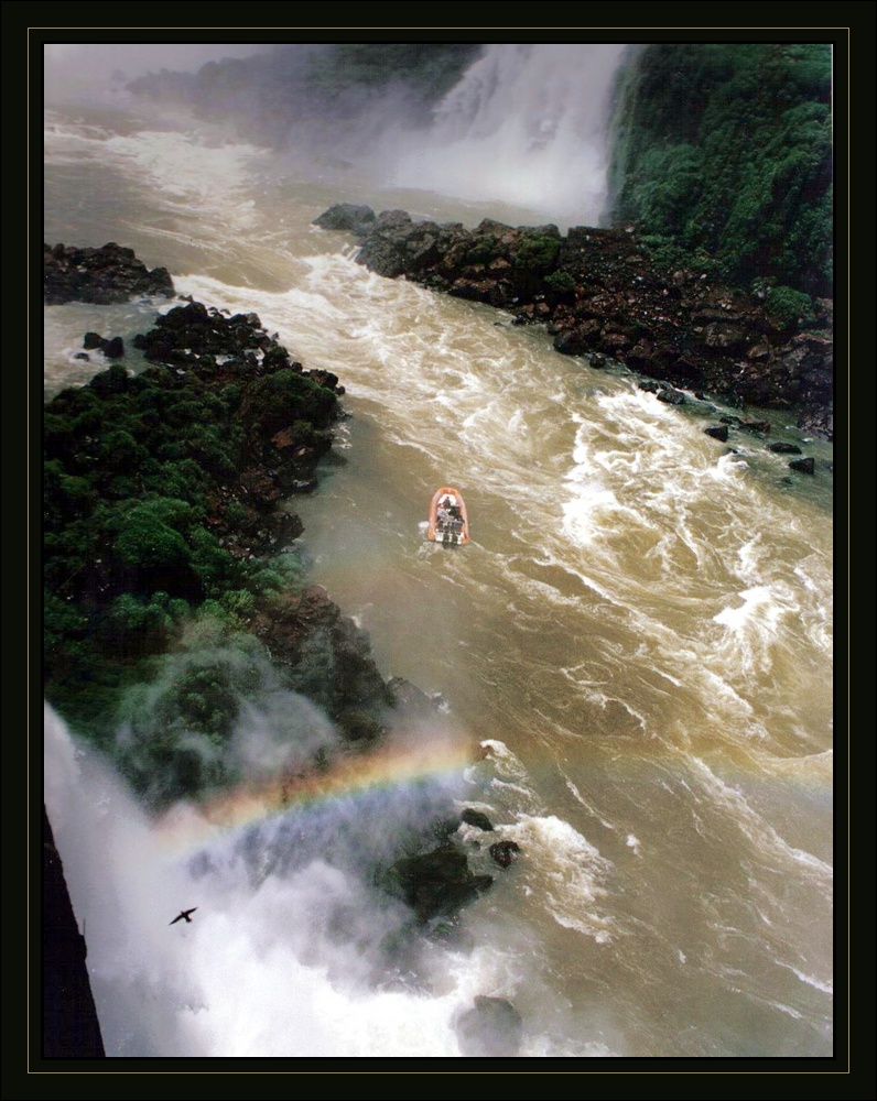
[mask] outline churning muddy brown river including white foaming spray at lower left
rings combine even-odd
[[[831,1055],[831,445],[758,411],[815,476],[756,437],[732,450],[620,366],[371,274],[312,225],[335,201],[553,220],[321,178],[178,120],[46,116],[45,241],[133,248],[338,375],[347,416],[320,488],[290,504],[297,545],[382,675],[441,696],[423,773],[520,855],[485,865],[494,886],[456,937],[377,981],[391,922],[349,870],[306,841],[278,866],[277,816],[246,825],[258,870],[245,827],[205,833],[182,808],[160,831],[47,709],[45,798],[108,1054],[458,1057],[455,1022],[485,994],[521,1014],[523,1057]],[[45,307],[46,395],[101,367],[74,358],[88,330],[122,336],[139,369],[130,339],[171,305]],[[425,539],[442,484],[465,495],[466,547]],[[390,755],[334,810],[289,814],[304,838],[340,806],[392,830],[402,773]]]

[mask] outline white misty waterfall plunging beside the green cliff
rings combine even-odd
[[[396,164],[394,183],[532,209],[563,226],[599,225],[609,120],[627,47],[487,46]]]

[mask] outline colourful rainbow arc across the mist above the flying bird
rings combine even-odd
[[[459,775],[473,763],[469,749],[446,740],[388,745],[334,759],[326,768],[281,773],[242,784],[197,804],[181,804],[156,822],[169,854],[195,849],[216,837],[269,818],[365,797],[375,791],[414,787]]]

